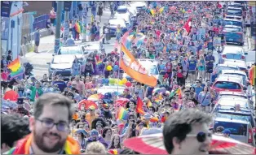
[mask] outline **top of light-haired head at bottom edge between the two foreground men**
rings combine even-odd
[[[104,144],[95,141],[87,145],[85,154],[107,154],[107,149]]]

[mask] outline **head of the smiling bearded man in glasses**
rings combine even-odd
[[[29,128],[35,149],[55,153],[64,147],[72,119],[71,101],[59,93],[43,94],[33,106]]]

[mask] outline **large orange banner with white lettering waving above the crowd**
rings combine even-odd
[[[120,55],[120,67],[127,75],[130,75],[131,78],[137,80],[139,83],[147,84],[150,87],[155,87],[157,85],[156,77],[150,75],[122,43]]]

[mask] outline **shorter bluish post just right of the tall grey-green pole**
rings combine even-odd
[[[69,11],[70,11],[70,7],[71,7],[72,2],[71,1],[64,1],[64,11],[65,11],[65,15],[64,15],[64,43],[67,41],[68,39],[68,35],[69,35]]]

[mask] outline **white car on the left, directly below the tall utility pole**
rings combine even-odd
[[[55,55],[52,58],[51,62],[47,62],[48,67],[48,75],[50,78],[52,75],[61,75],[64,80],[69,80],[71,76],[71,68],[73,65],[73,61],[76,57],[74,55]]]

